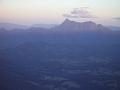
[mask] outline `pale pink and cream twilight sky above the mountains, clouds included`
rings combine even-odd
[[[0,0],[0,22],[54,24],[65,18],[120,26],[120,0]]]

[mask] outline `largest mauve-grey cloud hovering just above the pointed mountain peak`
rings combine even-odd
[[[74,8],[69,14],[63,14],[67,18],[96,18],[89,11],[88,7]]]

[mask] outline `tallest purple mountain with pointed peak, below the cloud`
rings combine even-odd
[[[54,31],[60,32],[109,32],[111,31],[108,27],[101,24],[96,24],[92,21],[87,22],[75,22],[66,19],[62,24],[53,28]]]

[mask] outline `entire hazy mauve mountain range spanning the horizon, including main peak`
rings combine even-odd
[[[106,27],[96,24],[92,21],[75,22],[65,19],[60,25],[54,24],[34,24],[32,26],[0,23],[0,31],[52,31],[52,32],[110,32],[111,30],[120,30],[120,27]]]

